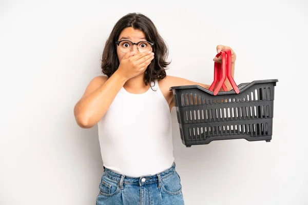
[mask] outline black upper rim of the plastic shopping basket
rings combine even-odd
[[[241,85],[244,85],[243,88],[240,88],[240,93],[248,89],[249,87],[252,87],[255,84],[263,84],[263,83],[277,83],[278,79],[266,79],[266,80],[254,80],[251,83],[241,83],[238,85],[238,87],[241,87]],[[190,86],[172,86],[169,88],[169,90],[177,90],[177,89],[191,89],[191,88],[198,88],[199,90],[202,90],[204,92],[207,92],[208,94],[214,95],[213,91],[209,91],[206,88],[203,88],[199,85],[190,85]],[[224,94],[236,94],[236,92],[232,89],[230,91],[221,91],[218,92],[217,95],[224,95]]]

